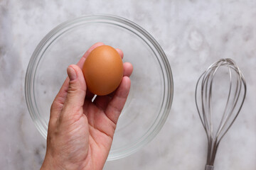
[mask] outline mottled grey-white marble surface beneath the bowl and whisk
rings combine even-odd
[[[256,167],[256,1],[0,0],[0,167],[39,169],[46,140],[26,108],[26,67],[48,31],[82,14],[109,13],[142,26],[166,52],[174,74],[169,118],[146,147],[105,169],[204,169],[206,135],[194,103],[198,76],[233,58],[247,81],[238,119],[218,148],[215,169]]]

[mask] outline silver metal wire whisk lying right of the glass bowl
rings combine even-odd
[[[245,94],[245,78],[231,59],[221,59],[213,63],[198,79],[196,108],[208,139],[206,170],[213,170],[220,140],[237,118],[245,101]],[[223,108],[220,107],[222,105]],[[221,114],[220,121],[216,123],[218,113]]]

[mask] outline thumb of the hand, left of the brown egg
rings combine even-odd
[[[70,65],[67,69],[70,79],[68,94],[63,106],[63,114],[77,114],[85,101],[86,84],[82,70],[77,65]]]

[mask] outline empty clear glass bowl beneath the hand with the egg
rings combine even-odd
[[[119,16],[92,15],[61,23],[38,44],[26,72],[28,111],[43,137],[47,136],[50,105],[67,77],[68,65],[80,60],[95,42],[118,47],[123,62],[131,62],[131,90],[119,117],[107,160],[136,152],[161,130],[171,109],[171,67],[154,38]]]

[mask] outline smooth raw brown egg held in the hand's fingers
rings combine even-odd
[[[110,94],[122,81],[122,58],[109,45],[96,47],[85,60],[82,72],[89,91],[99,96]]]

